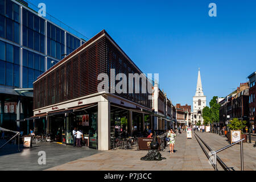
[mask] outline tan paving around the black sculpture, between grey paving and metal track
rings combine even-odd
[[[48,170],[213,171],[196,139],[187,139],[185,133],[176,137],[174,154],[170,154],[168,147],[160,153],[166,158],[165,160],[142,161],[140,159],[147,154],[147,151],[110,150]]]

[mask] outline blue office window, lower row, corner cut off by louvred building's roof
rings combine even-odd
[[[44,61],[44,56],[23,49],[22,88],[33,87],[33,82],[45,71]]]

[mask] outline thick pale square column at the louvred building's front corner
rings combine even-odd
[[[98,150],[110,150],[110,103],[98,102]]]

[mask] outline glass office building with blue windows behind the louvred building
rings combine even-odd
[[[26,133],[31,117],[33,82],[85,43],[24,1],[0,0],[0,127]]]

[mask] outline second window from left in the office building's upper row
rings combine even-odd
[[[22,10],[22,45],[45,53],[45,20],[39,16]],[[29,35],[29,36],[28,36]]]

